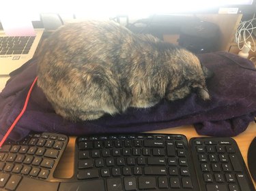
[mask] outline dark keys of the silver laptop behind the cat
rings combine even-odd
[[[0,55],[28,54],[35,37],[0,37]]]

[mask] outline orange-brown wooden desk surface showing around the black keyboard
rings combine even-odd
[[[188,140],[192,137],[206,137],[198,135],[195,131],[195,128],[193,126],[179,126],[175,128],[165,128],[163,130],[158,131],[150,131],[148,133],[171,133],[171,134],[182,134],[185,135]],[[238,146],[240,147],[240,151],[242,153],[242,156],[244,158],[244,161],[247,165],[247,151],[248,147],[251,143],[251,141],[256,136],[256,124],[255,122],[252,122],[246,131],[241,133],[240,135],[233,137],[233,139],[236,140],[238,143]],[[74,166],[74,141],[75,137],[70,137],[70,141],[68,143],[68,146],[66,148],[66,151],[63,154],[63,157],[61,158],[61,161],[59,163],[59,166],[57,167],[55,171],[55,177],[60,178],[68,178],[72,177],[73,175],[73,166]],[[256,183],[254,182],[255,188]]]

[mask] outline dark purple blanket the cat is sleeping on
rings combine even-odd
[[[196,94],[169,102],[162,100],[147,109],[130,108],[126,113],[99,120],[73,123],[55,114],[44,93],[35,85],[27,110],[14,127],[10,139],[19,140],[30,131],[66,135],[92,133],[136,133],[194,124],[197,133],[234,136],[246,130],[256,116],[256,71],[253,63],[235,54],[199,54],[201,63],[214,72],[207,81],[211,101]],[[11,73],[0,94],[0,140],[23,108],[29,87],[36,76],[37,63],[28,63]]]

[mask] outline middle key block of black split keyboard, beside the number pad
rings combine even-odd
[[[199,190],[190,158],[184,135],[79,137],[75,173],[96,190]]]

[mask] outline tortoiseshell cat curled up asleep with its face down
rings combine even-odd
[[[56,113],[95,120],[128,107],[152,107],[195,91],[210,99],[197,56],[115,22],[66,24],[39,47],[38,86]]]

